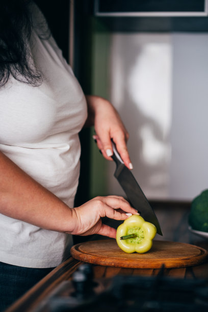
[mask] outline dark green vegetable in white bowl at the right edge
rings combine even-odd
[[[192,201],[189,224],[195,230],[208,232],[208,190]]]

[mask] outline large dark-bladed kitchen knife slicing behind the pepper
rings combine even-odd
[[[112,159],[116,163],[114,176],[117,178],[119,184],[126,193],[128,201],[141,214],[145,221],[148,221],[156,226],[158,234],[163,235],[158,218],[138,185],[134,175],[124,165],[113,141],[112,146],[114,152]]]

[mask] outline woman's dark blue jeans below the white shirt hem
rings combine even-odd
[[[24,268],[0,262],[0,311],[4,311],[53,269]]]

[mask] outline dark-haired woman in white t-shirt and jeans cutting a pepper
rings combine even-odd
[[[113,138],[125,165],[128,134],[111,103],[84,96],[31,1],[2,2],[0,18],[1,310],[67,256],[72,235],[116,230],[101,217],[135,214],[119,196],[73,207],[80,170],[79,132],[94,123],[98,148],[111,160]],[[88,111],[88,114],[87,114]]]

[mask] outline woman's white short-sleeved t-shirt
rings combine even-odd
[[[0,150],[73,207],[80,173],[78,133],[87,117],[86,100],[54,39],[37,35],[42,15],[34,4],[32,11],[30,48],[44,79],[33,87],[11,78],[0,89]],[[71,245],[71,235],[0,214],[1,262],[55,267],[69,255]]]

